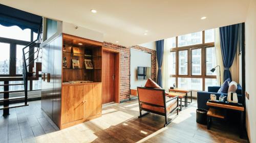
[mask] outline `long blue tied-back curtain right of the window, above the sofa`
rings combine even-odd
[[[222,61],[224,66],[224,81],[231,78],[229,68],[233,64],[234,56],[237,52],[239,24],[220,27],[220,42]]]

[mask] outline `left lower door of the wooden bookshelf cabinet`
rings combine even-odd
[[[62,87],[61,124],[83,119],[83,85]]]

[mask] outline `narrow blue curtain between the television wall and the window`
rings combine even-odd
[[[157,64],[158,64],[158,73],[157,73],[157,83],[162,88],[162,63],[163,63],[163,43],[164,40],[156,41],[157,49]]]

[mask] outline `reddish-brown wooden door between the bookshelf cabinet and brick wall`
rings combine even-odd
[[[102,104],[114,102],[115,94],[115,53],[102,54]]]

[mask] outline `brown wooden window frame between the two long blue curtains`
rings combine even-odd
[[[176,74],[171,74],[170,77],[176,78],[176,85],[178,85],[178,78],[202,78],[202,90],[205,91],[205,79],[206,78],[214,78],[216,79],[216,75],[206,75],[206,48],[215,47],[214,42],[205,43],[205,31],[202,31],[202,43],[196,45],[182,46],[178,47],[178,36],[176,37],[176,47],[170,48],[170,52],[176,52]],[[192,73],[192,56],[191,50],[201,49],[201,75],[193,75]],[[179,74],[179,51],[187,50],[187,75]],[[214,68],[214,67],[212,67]],[[178,87],[179,88],[179,87]]]

